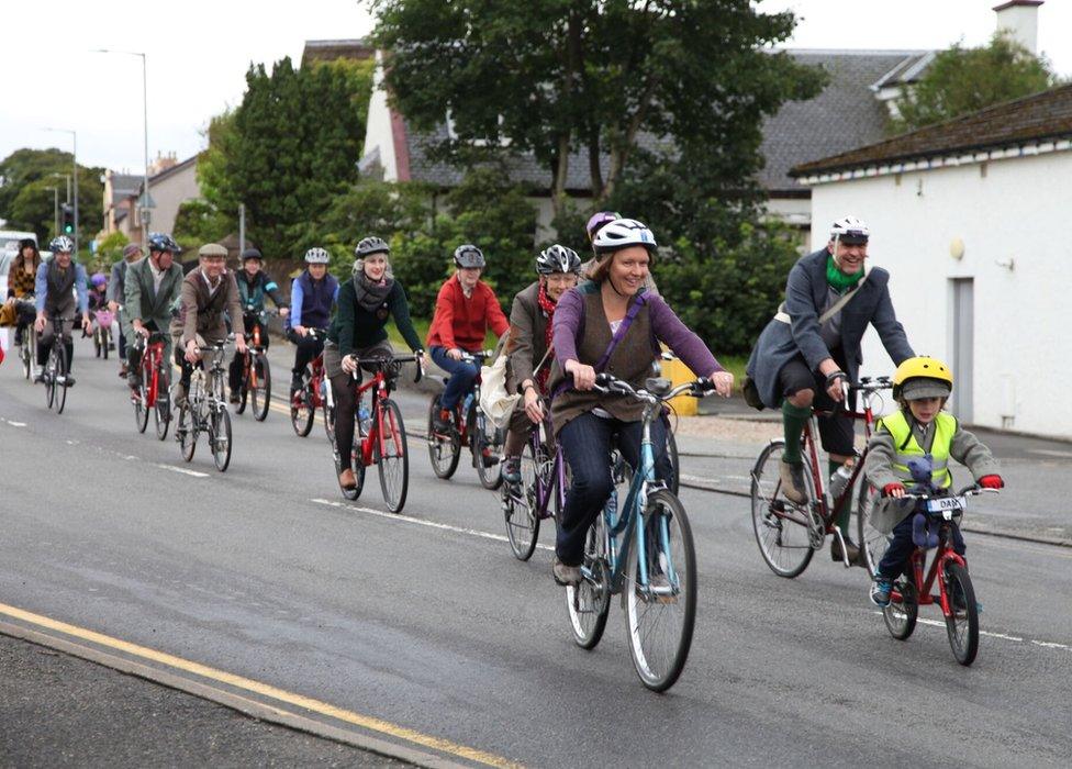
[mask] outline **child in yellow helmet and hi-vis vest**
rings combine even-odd
[[[890,604],[893,582],[915,548],[912,539],[915,500],[904,499],[908,493],[906,484],[914,482],[909,461],[929,455],[930,484],[939,490],[952,486],[950,458],[965,465],[982,488],[1005,486],[990,449],[943,411],[952,388],[952,375],[940,360],[906,359],[893,375],[893,397],[901,409],[883,416],[871,436],[863,472],[883,498],[875,502],[871,524],[884,534],[892,534],[871,587],[871,601],[879,606]],[[953,550],[964,555],[964,538],[957,526],[952,528],[952,539]]]

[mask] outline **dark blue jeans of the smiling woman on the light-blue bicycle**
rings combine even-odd
[[[611,449],[616,446],[630,467],[639,466],[641,424],[603,419],[588,412],[574,417],[559,432],[559,445],[566,453],[566,461],[573,477],[555,543],[555,555],[567,566],[580,566],[584,560],[584,538],[589,526],[603,510],[613,490]],[[671,467],[667,457],[667,427],[662,420],[651,422],[651,444],[655,475],[666,480],[670,477]]]

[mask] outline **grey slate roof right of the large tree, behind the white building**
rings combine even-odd
[[[806,194],[790,176],[790,169],[872,144],[885,136],[889,112],[875,91],[914,80],[929,63],[929,52],[789,53],[801,64],[823,67],[829,75],[829,82],[814,99],[783,104],[763,124],[760,152],[767,166],[760,171],[759,181],[770,193]]]

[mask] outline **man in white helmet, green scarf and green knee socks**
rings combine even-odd
[[[856,216],[834,223],[829,242],[790,270],[783,311],[767,324],[748,360],[748,376],[763,403],[782,410],[782,492],[797,504],[804,501],[801,435],[813,405],[836,412],[819,419],[829,473],[855,456],[852,416],[837,409],[844,398],[842,383],[856,381],[859,374],[860,344],[868,324],[879,332],[895,364],[915,355],[893,311],[890,274],[864,266],[870,236],[868,225]],[[848,304],[844,304],[846,298]],[[834,314],[820,324],[819,317],[827,311]],[[849,537],[849,513],[845,505],[837,524],[848,549],[845,555],[855,562],[860,553]],[[830,557],[841,560],[841,545],[834,537]]]

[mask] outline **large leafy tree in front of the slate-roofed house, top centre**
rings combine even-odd
[[[375,37],[391,52],[391,98],[418,129],[453,118],[448,157],[474,138],[532,152],[566,209],[571,153],[588,153],[596,207],[614,197],[641,140],[660,154],[705,147],[721,186],[748,185],[759,125],[823,75],[768,46],[792,13],[748,0],[373,0]]]

